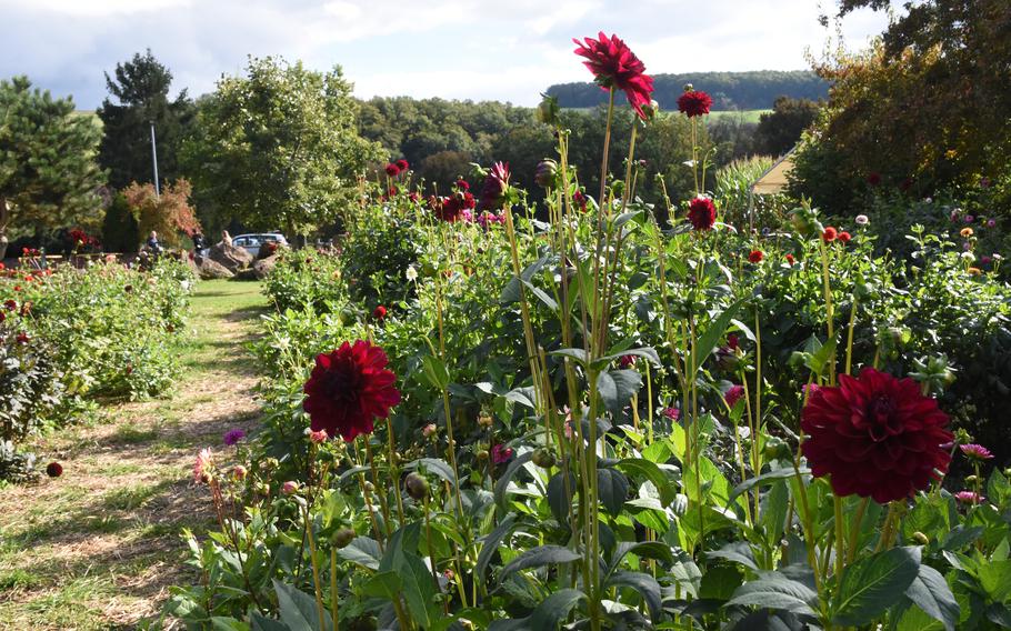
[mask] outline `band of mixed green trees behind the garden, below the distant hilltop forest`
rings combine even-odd
[[[117,64],[106,84],[109,96],[96,112],[101,124],[74,116],[69,98],[32,90],[28,79],[0,86],[6,99],[0,103],[10,112],[29,112],[23,120],[32,121],[20,129],[8,126],[10,136],[29,140],[21,143],[22,164],[39,163],[57,141],[52,131],[32,136],[39,120],[78,146],[63,157],[73,166],[53,163],[0,187],[0,197],[14,209],[6,223],[24,243],[58,247],[73,227],[100,231],[110,251],[132,251],[148,230],[171,232],[172,226],[211,236],[222,229],[332,231],[353,208],[359,178],[380,182],[382,167],[397,159],[411,164],[426,194],[444,193],[459,178],[476,184],[474,164],[508,162],[513,182],[538,201],[543,192],[533,182],[537,163],[557,157],[552,130],[537,121],[532,108],[408,97],[359,100],[340,68],[319,72],[301,62],[251,58],[244,74],[223,78],[214,92],[194,100],[186,90],[170,97],[172,73],[149,50]],[[715,166],[751,153],[781,153],[815,110],[812,101],[783,99],[760,123],[729,117],[708,123],[700,143],[714,149]],[[798,120],[798,111],[807,118]],[[604,110],[565,110],[561,120],[575,139],[570,163],[594,191]],[[630,111],[617,117],[613,164],[624,158],[632,124]],[[164,199],[153,187],[152,131]],[[672,197],[688,194],[692,183],[683,158],[690,154],[683,117],[664,112],[642,129],[639,194],[658,201],[658,176]],[[159,212],[164,217],[156,218]],[[178,242],[174,234],[164,236]]]

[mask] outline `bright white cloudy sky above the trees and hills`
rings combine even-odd
[[[151,48],[193,96],[247,54],[279,54],[341,64],[360,97],[533,104],[551,83],[589,79],[573,37],[614,32],[654,73],[795,70],[830,34],[819,13],[819,0],[0,0],[0,78],[28,74],[90,109],[102,72]],[[853,13],[845,43],[885,23]]]

